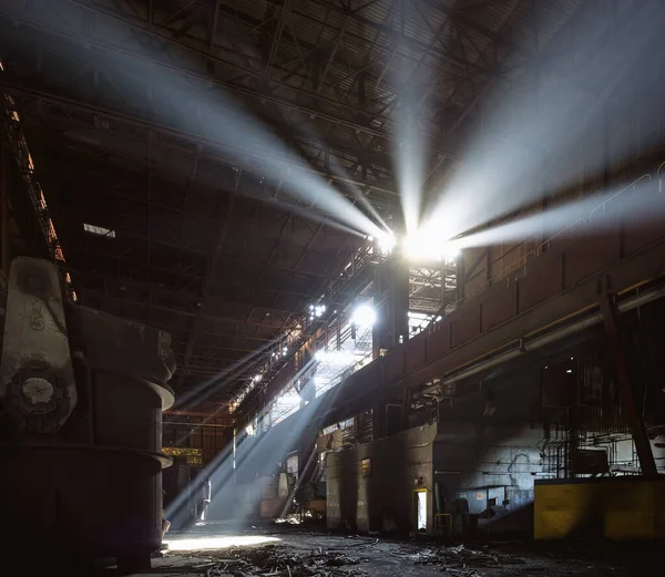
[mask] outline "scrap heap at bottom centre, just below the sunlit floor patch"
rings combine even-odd
[[[213,558],[206,573],[207,577],[366,577],[367,573],[355,566],[367,560],[341,550],[297,553],[287,546],[267,545],[228,549],[223,559]]]

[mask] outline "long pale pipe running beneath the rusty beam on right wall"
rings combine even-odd
[[[635,295],[634,297],[631,297],[620,302],[617,308],[620,312],[627,312],[630,310],[634,310],[638,307],[642,307],[643,305],[647,305],[648,302],[653,302],[654,300],[657,300],[663,297],[665,297],[665,286],[652,290],[645,290],[644,292]],[[593,315],[590,315],[584,319],[573,322],[567,327],[562,327],[561,329],[543,334],[542,337],[535,337],[534,339],[523,341],[520,348],[498,354],[497,357],[488,359],[484,362],[480,362],[473,367],[470,367],[469,369],[462,370],[448,379],[442,379],[441,382],[442,384],[453,384],[464,379],[469,379],[470,377],[473,377],[478,373],[484,372],[489,369],[493,369],[494,367],[503,364],[504,362],[516,359],[524,352],[540,349],[542,347],[545,347],[546,344],[551,344],[552,342],[556,342],[565,337],[575,334],[595,324],[598,324],[602,321],[603,315],[601,312],[594,312]]]

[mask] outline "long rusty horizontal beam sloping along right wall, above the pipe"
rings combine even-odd
[[[663,236],[661,233],[661,238]],[[541,257],[543,266],[561,267],[566,254],[575,249],[574,243],[559,245],[556,249]],[[529,275],[529,270],[523,274]],[[597,310],[600,279],[610,281],[613,290],[621,292],[663,274],[665,274],[665,243],[661,240],[617,258],[608,267],[598,264],[595,268],[587,269],[574,285],[559,290],[531,308],[513,309],[502,323],[484,329],[475,338],[450,348],[448,333],[454,330],[456,323],[466,321],[469,309],[475,309],[477,315],[480,316],[484,303],[492,302],[495,295],[499,295],[500,299],[504,298],[505,293],[516,295],[521,290],[522,277],[519,276],[507,285],[492,287],[477,299],[463,305],[461,310],[433,323],[407,346],[397,347],[385,357],[362,368],[290,419],[309,420],[314,427],[340,421],[356,414],[359,410],[372,406],[377,398],[390,399],[392,391],[399,388],[421,385],[431,379],[470,365],[493,352],[500,352],[510,343],[519,343],[522,337],[538,333],[571,315],[591,309]],[[538,287],[538,290],[541,288]],[[514,299],[514,296],[512,298]],[[409,346],[421,347],[421,343],[412,344],[418,340],[424,342],[427,361],[407,371],[405,364],[407,350]],[[288,430],[289,422],[290,420],[287,419],[277,425],[275,432],[283,426],[286,427],[285,431]]]

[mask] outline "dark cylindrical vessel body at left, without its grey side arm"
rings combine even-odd
[[[78,396],[66,421],[40,432],[0,413],[0,521],[13,537],[0,552],[150,566],[171,464],[161,453],[171,338],[85,307],[68,310],[66,331]]]

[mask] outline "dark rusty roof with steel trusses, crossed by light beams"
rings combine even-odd
[[[185,79],[191,119],[207,116],[196,103],[231,94],[313,174],[388,216],[399,210],[399,74],[422,93],[419,142],[437,182],[458,165],[483,96],[529,68],[521,42],[536,31],[543,51],[584,4],[37,0],[0,9],[1,81],[66,248],[63,271],[86,305],[170,330],[175,387],[191,390],[283,338],[358,239],[308,221],[304,210],[326,215],[264,181],[274,158],[186,130],[155,90]],[[115,240],[84,235],[92,220]],[[216,400],[255,372],[228,377]]]

